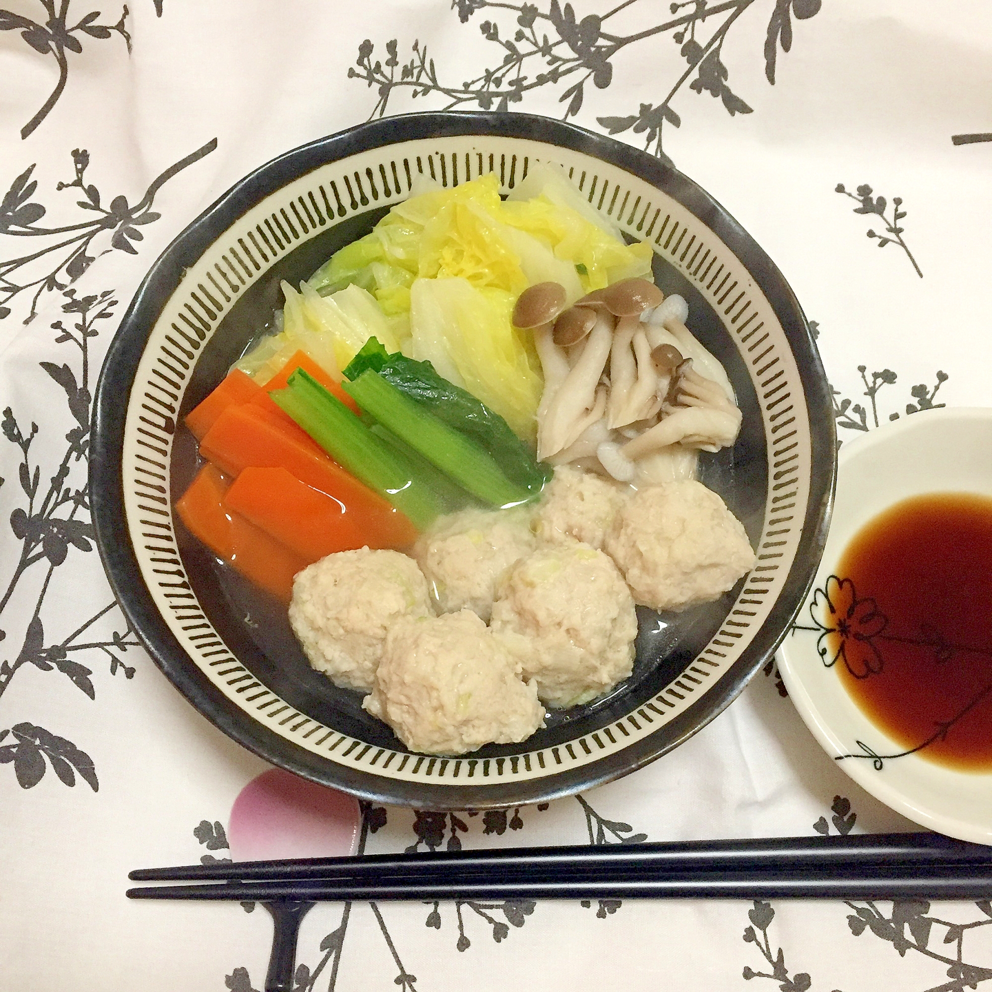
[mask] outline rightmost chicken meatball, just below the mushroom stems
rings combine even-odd
[[[641,489],[617,515],[605,549],[634,599],[655,610],[710,602],[755,563],[740,521],[694,480]]]

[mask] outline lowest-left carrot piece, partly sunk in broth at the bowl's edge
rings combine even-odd
[[[288,603],[293,576],[310,562],[234,512],[227,503],[228,491],[221,473],[204,465],[176,503],[180,519],[217,558]]]

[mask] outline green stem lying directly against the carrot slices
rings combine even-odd
[[[286,389],[269,394],[336,462],[382,494],[419,530],[444,510],[431,487],[400,452],[362,424],[348,408],[303,369]]]

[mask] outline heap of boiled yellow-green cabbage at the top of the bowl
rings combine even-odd
[[[492,173],[451,188],[423,181],[413,192],[313,274],[304,315],[331,331],[341,367],[374,334],[391,352],[429,359],[533,438],[544,380],[532,333],[511,323],[517,297],[554,281],[573,303],[620,279],[650,278],[651,248],[627,245],[559,170],[540,163],[507,200]],[[385,336],[367,307],[358,325],[342,325],[341,305],[329,302],[348,292],[374,299],[392,320]]]

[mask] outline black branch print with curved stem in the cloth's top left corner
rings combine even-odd
[[[0,10],[0,31],[20,32],[26,45],[41,56],[51,56],[59,65],[59,81],[35,116],[21,128],[22,139],[27,138],[59,102],[68,79],[69,54],[81,55],[83,43],[89,44],[90,39],[107,39],[113,35],[120,35],[128,52],[131,51],[131,36],[124,28],[128,16],[127,4],[123,6],[116,24],[100,24],[98,10],[81,14],[76,20],[74,13],[69,14],[71,0],[38,0],[38,5],[44,10],[44,16],[37,21],[10,10]]]

